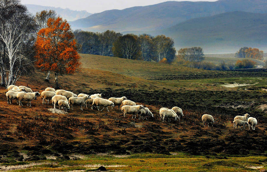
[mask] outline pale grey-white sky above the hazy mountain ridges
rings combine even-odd
[[[134,6],[158,4],[167,0],[21,0],[22,4],[36,4],[42,6],[69,8],[72,10],[86,10],[98,13],[110,9],[125,9]],[[184,0],[177,0],[184,1]],[[199,0],[190,0],[199,1]],[[217,1],[217,0],[202,0]]]

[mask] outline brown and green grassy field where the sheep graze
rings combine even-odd
[[[68,114],[53,114],[47,110],[53,106],[43,105],[40,97],[32,101],[32,107],[19,107],[15,101],[7,104],[6,90],[1,87],[0,168],[91,171],[104,165],[110,171],[267,170],[266,76],[264,70],[204,71],[82,55],[79,72],[59,77],[62,89],[104,93],[106,98],[126,96],[148,107],[155,118],[123,118],[117,107],[98,112],[75,106]],[[44,79],[45,74],[36,71],[16,85],[41,93],[54,86],[53,78],[50,83]],[[180,122],[160,122],[159,109],[173,106],[181,107],[185,117]],[[256,130],[233,129],[233,117],[245,113],[257,118]],[[214,116],[213,128],[203,127],[203,114]],[[59,160],[62,155],[71,160]]]

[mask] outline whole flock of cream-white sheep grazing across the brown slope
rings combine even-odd
[[[15,86],[10,85],[7,88],[7,103],[12,103],[12,99],[16,99],[18,101],[19,106],[23,106],[21,101],[28,101],[27,106],[31,101],[36,99],[37,96],[40,96],[38,92],[33,93],[33,91],[25,86]],[[87,95],[87,94],[79,94],[76,95],[70,91],[66,90],[55,90],[54,88],[46,88],[45,91],[41,93],[41,96],[43,98],[43,104],[45,104],[45,100],[47,100],[47,104],[49,104],[50,100],[52,101],[52,104],[54,105],[54,108],[56,108],[56,105],[59,106],[59,109],[64,109],[65,111],[69,111],[70,109],[73,110],[73,105],[79,105],[80,110],[82,110],[82,106],[86,106],[86,108],[93,109],[95,106],[98,111],[99,107],[103,107],[100,111],[104,110],[104,108],[107,108],[108,112],[108,106],[111,106],[111,109],[114,106],[118,106],[118,109],[123,112],[123,116],[125,117],[126,114],[131,114],[132,118],[136,118],[136,115],[138,114],[139,120],[141,119],[148,119],[148,117],[154,117],[154,115],[150,112],[148,108],[145,108],[143,105],[136,105],[135,102],[131,100],[127,100],[125,96],[121,98],[115,98],[111,97],[108,100],[102,98],[104,94],[93,94],[93,95]],[[162,122],[168,120],[180,120],[181,117],[183,117],[182,109],[179,107],[173,107],[172,109],[167,108],[160,108],[159,111],[160,114],[160,120]],[[257,125],[256,118],[249,117],[249,114],[244,114],[244,116],[236,116],[234,118],[234,128],[243,128],[245,129],[245,125],[247,124],[252,128],[252,130],[255,130],[255,126]],[[202,116],[203,125],[205,126],[205,123],[208,124],[208,126],[211,124],[213,126],[214,119],[211,115],[204,114]]]

